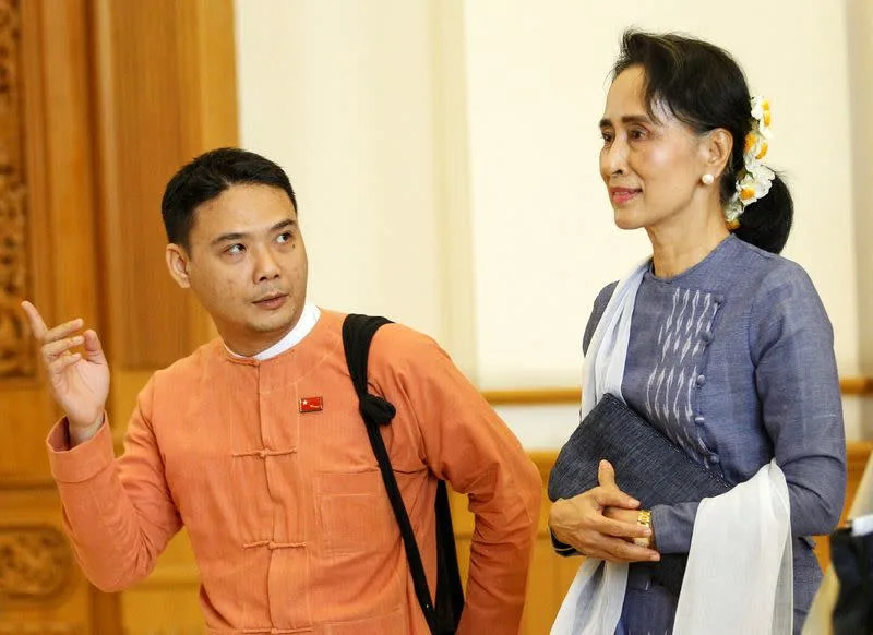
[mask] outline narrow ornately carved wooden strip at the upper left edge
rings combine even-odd
[[[0,0],[0,378],[34,372],[19,305],[27,293],[27,190],[19,0]]]

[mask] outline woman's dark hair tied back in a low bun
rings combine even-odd
[[[752,128],[751,96],[745,76],[726,50],[707,41],[667,33],[626,31],[612,67],[614,80],[631,67],[642,67],[648,115],[658,105],[698,134],[723,128],[733,137],[733,151],[721,178],[721,203],[736,192],[743,167],[745,136]],[[791,231],[793,203],[777,175],[769,193],[749,205],[734,233],[742,240],[779,253]]]

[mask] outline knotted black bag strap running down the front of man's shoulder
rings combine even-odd
[[[406,506],[397,487],[397,479],[394,478],[394,470],[391,467],[391,458],[385,448],[385,442],[380,426],[391,423],[396,415],[394,406],[378,395],[372,395],[367,391],[367,360],[370,355],[370,343],[375,332],[383,325],[391,324],[391,320],[380,316],[349,314],[343,322],[343,347],[346,351],[346,363],[348,364],[351,383],[360,400],[360,411],[367,424],[367,435],[370,438],[370,445],[373,446],[373,454],[379,462],[379,470],[382,472],[382,481],[391,501],[391,508],[394,510],[394,517],[400,528],[403,546],[406,550],[406,560],[409,561],[409,572],[412,575],[418,603],[428,621],[431,633],[436,633],[436,611],[433,608],[428,578],[424,574],[424,565],[421,562],[421,553],[418,550],[416,536],[412,531],[412,524],[406,513]],[[444,486],[443,486],[444,487]]]

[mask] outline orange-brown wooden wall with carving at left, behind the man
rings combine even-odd
[[[147,376],[212,334],[166,272],[160,196],[236,144],[235,67],[232,0],[0,0],[0,635],[129,626],[62,535],[60,412],[20,303],[98,332],[120,439]]]

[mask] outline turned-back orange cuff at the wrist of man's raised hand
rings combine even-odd
[[[48,433],[46,446],[51,476],[62,483],[79,483],[94,478],[115,460],[108,416],[94,436],[75,447],[70,447],[70,429],[64,417]]]

